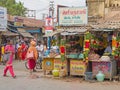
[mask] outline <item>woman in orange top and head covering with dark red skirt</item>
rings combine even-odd
[[[38,58],[38,53],[37,53],[36,42],[35,41],[30,42],[30,47],[28,48],[27,55],[28,55],[28,53],[31,53],[31,52],[33,52],[33,57],[27,58],[30,74],[32,74],[33,69],[35,68],[35,65],[36,65],[36,60]]]

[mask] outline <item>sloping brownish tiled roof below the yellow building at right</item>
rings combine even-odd
[[[99,29],[104,31],[106,29],[116,30],[120,28],[120,11],[111,11],[105,15],[105,18],[98,20],[97,23],[91,25],[96,31]]]

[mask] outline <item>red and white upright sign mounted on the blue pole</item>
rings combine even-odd
[[[45,20],[45,34],[52,33],[53,31],[53,19],[47,17]]]

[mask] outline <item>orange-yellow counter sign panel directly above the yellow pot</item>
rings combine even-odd
[[[54,69],[61,69],[61,67],[67,68],[67,61],[64,62],[61,61],[61,59],[55,59],[54,60]]]

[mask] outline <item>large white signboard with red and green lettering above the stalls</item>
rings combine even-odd
[[[60,26],[78,26],[87,24],[87,7],[60,7],[58,23]]]

